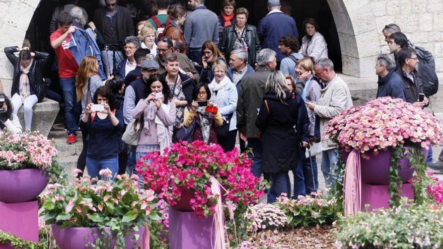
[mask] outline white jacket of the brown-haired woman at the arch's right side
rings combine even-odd
[[[303,37],[302,47],[300,48],[299,53],[302,53],[305,56],[312,56],[315,61],[320,58],[328,58],[328,45],[322,34],[315,32],[311,40],[309,40],[308,35]]]

